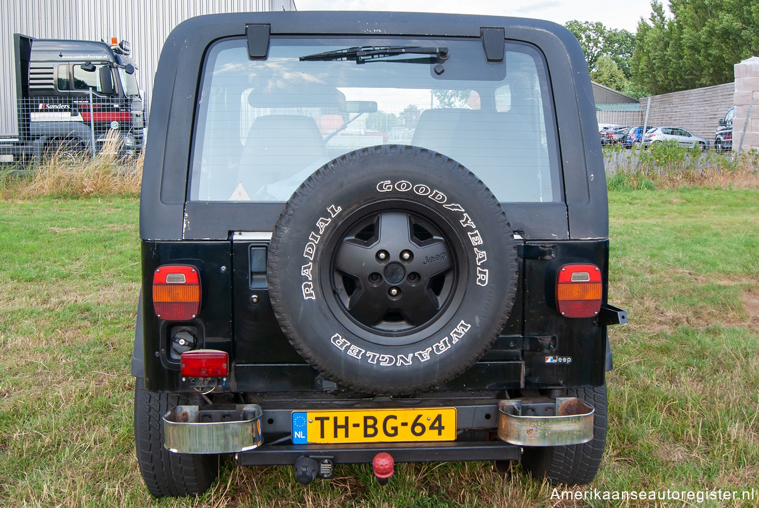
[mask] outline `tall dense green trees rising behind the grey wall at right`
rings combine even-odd
[[[651,2],[641,18],[631,58],[632,80],[646,93],[668,93],[728,83],[733,65],[759,54],[755,0]]]

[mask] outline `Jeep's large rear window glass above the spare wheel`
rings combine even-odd
[[[299,57],[356,46],[340,38],[272,38],[266,60],[244,39],[206,57],[190,200],[285,201],[329,160],[362,147],[436,150],[504,202],[562,200],[543,58],[506,43],[487,63],[478,39],[361,39],[362,46],[445,46],[440,62],[400,55],[363,64]]]

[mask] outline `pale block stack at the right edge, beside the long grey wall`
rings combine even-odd
[[[751,107],[751,118],[748,118],[748,109],[751,99],[754,105]],[[732,150],[759,150],[759,57],[752,56],[743,62],[735,64],[735,118],[732,120]]]

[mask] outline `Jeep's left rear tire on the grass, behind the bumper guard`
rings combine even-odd
[[[163,447],[163,415],[187,402],[177,393],[145,390],[137,377],[134,385],[134,442],[140,473],[155,497],[203,494],[219,475],[218,455],[172,453]]]

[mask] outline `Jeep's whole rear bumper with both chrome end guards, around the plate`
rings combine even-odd
[[[518,459],[521,446],[570,445],[593,438],[594,408],[574,397],[455,405],[458,436],[480,431],[483,440],[424,443],[294,445],[288,437],[290,415],[302,407],[269,412],[257,404],[209,408],[182,405],[168,411],[163,417],[165,448],[175,453],[236,453],[242,465],[291,464],[304,455],[325,456],[332,462],[370,462],[379,451],[391,453],[396,462],[437,462]],[[275,439],[262,446],[266,424]]]

